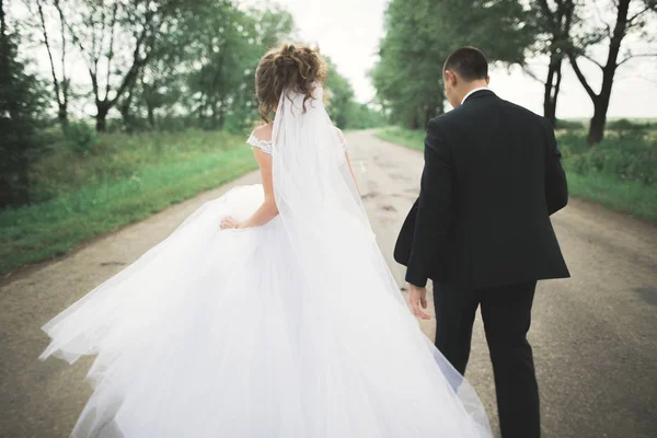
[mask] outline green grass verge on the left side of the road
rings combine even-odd
[[[106,135],[88,155],[56,145],[34,166],[42,201],[0,211],[0,274],[65,254],[257,168],[243,136]]]

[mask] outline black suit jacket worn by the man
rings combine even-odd
[[[429,122],[419,197],[394,256],[416,286],[568,277],[550,221],[567,200],[550,122],[477,91]]]

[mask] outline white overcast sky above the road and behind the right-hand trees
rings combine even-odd
[[[246,4],[262,4],[257,0],[243,0]],[[295,16],[299,36],[308,43],[319,44],[354,87],[361,102],[371,100],[374,89],[367,77],[377,60],[377,48],[383,36],[383,12],[388,0],[279,0]],[[473,25],[476,25],[473,23]],[[653,50],[655,51],[655,50]],[[530,62],[535,74],[546,74],[545,60]],[[600,78],[597,67],[586,66],[589,78]],[[616,72],[610,117],[657,117],[657,62],[642,59],[625,65]],[[440,72],[437,71],[437,80]],[[542,113],[543,88],[519,68],[508,72],[494,68],[491,88],[502,97]],[[413,80],[413,78],[408,78]],[[590,117],[592,104],[569,67],[564,69],[557,116],[562,118]]]

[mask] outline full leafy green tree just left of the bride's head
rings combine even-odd
[[[154,129],[160,116],[242,130],[257,116],[255,67],[267,49],[289,38],[291,15],[278,7],[238,8],[230,0],[186,4],[116,103],[126,130]]]

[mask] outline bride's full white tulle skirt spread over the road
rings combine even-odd
[[[41,356],[97,355],[76,437],[487,437],[468,383],[376,287],[301,287],[262,186],[203,205],[48,322]],[[348,251],[348,249],[345,249]]]

